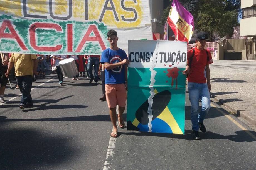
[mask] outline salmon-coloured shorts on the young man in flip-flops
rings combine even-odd
[[[126,89],[124,84],[105,84],[106,99],[108,107],[115,108],[116,105],[125,107],[126,105]]]

